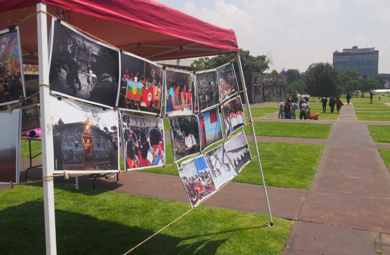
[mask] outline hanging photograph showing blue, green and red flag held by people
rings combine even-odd
[[[163,69],[129,53],[121,53],[117,106],[123,111],[161,114]]]

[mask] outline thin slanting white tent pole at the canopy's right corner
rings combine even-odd
[[[254,145],[254,151],[257,155],[257,163],[258,167],[260,169],[260,174],[262,175],[262,182],[263,182],[263,189],[264,189],[264,196],[266,198],[267,202],[267,208],[268,208],[268,215],[270,216],[270,226],[274,225],[274,222],[272,221],[272,215],[271,215],[271,209],[270,209],[270,203],[268,201],[268,195],[267,195],[267,189],[266,189],[266,183],[264,182],[264,175],[263,175],[263,168],[262,168],[262,163],[260,162],[260,155],[258,154],[258,148],[257,148],[257,141],[256,141],[256,135],[254,133],[254,124],[252,122],[252,114],[250,113],[250,107],[249,107],[249,100],[248,100],[248,93],[246,92],[246,86],[245,86],[245,80],[244,80],[244,73],[242,71],[242,66],[241,66],[241,59],[240,59],[240,53],[237,53],[237,62],[240,70],[240,78],[241,78],[241,84],[242,84],[242,89],[244,90],[244,96],[245,96],[245,103],[246,103],[246,110],[248,112],[248,117],[250,121],[250,128],[252,131],[252,138],[253,138],[253,145]],[[244,116],[245,117],[245,116]]]

